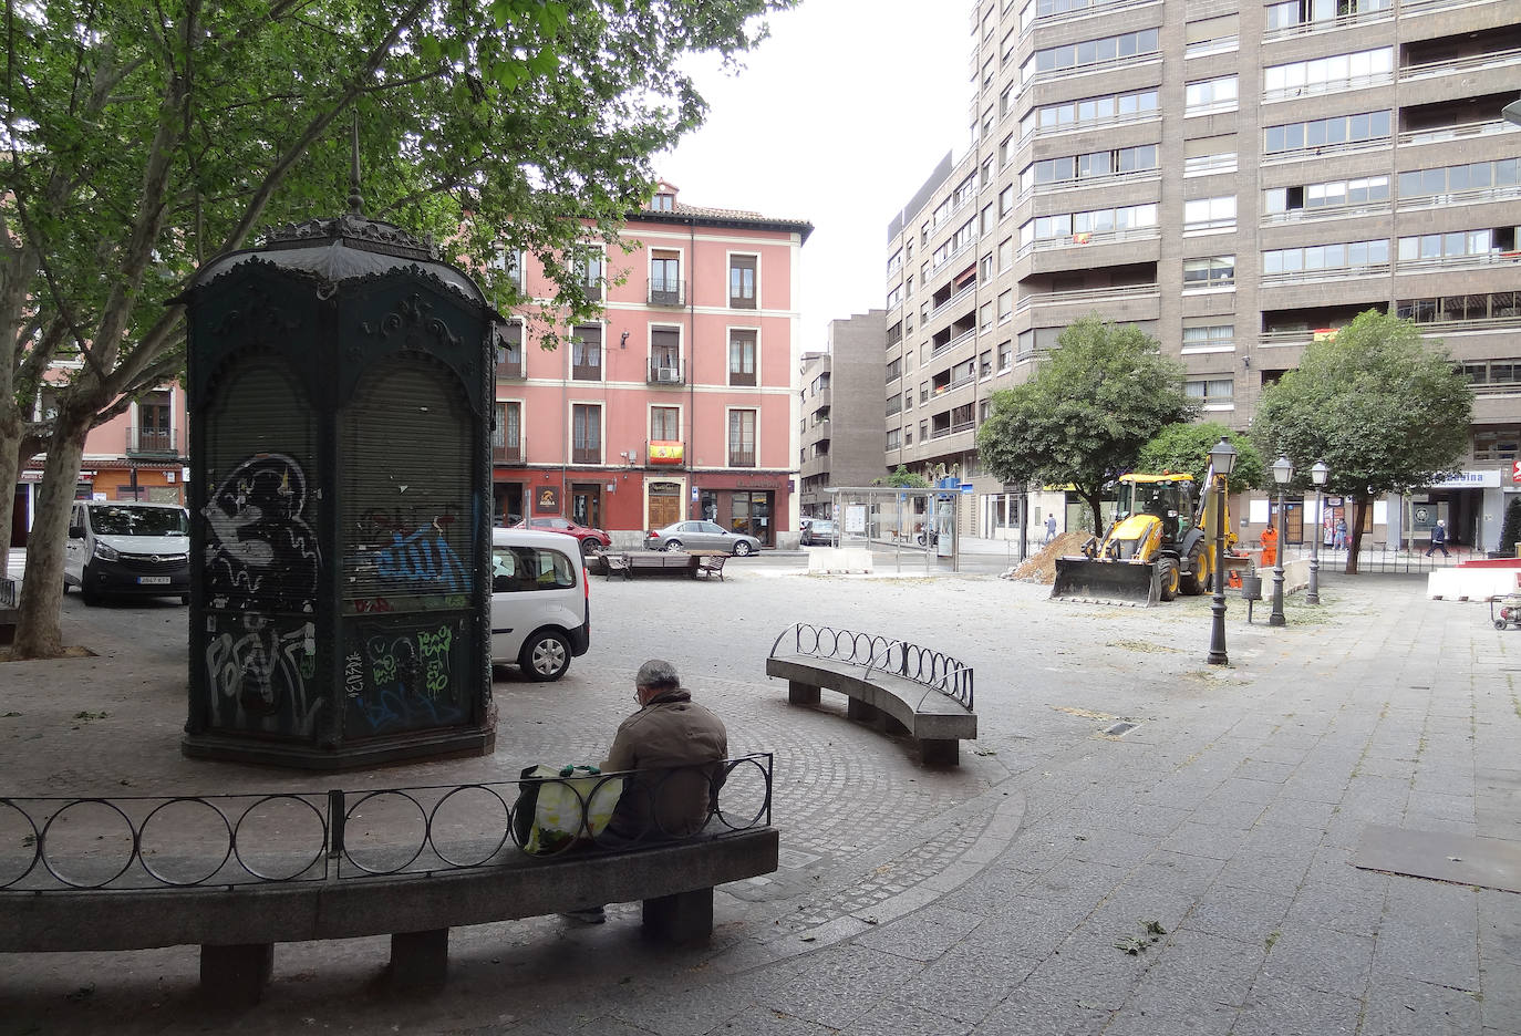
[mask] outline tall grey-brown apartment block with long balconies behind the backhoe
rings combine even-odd
[[[1378,309],[1440,338],[1475,406],[1463,470],[1384,502],[1375,540],[1440,516],[1492,548],[1521,441],[1518,23],[1515,0],[976,3],[972,145],[890,227],[887,464],[970,479],[992,534],[987,397],[1074,318],[1141,326],[1244,429]]]

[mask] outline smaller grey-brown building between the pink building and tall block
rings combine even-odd
[[[829,485],[868,485],[884,475],[882,412],[885,373],[882,335],[887,313],[873,309],[829,321],[823,353],[805,353],[799,420],[799,507],[803,514],[832,516]],[[888,412],[891,412],[891,402]],[[888,446],[893,432],[888,432]]]

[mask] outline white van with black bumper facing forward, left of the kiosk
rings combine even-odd
[[[178,596],[190,604],[190,513],[178,504],[75,501],[64,589],[85,604],[108,595]]]

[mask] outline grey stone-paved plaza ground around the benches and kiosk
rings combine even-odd
[[[376,992],[385,939],[281,945],[265,1003],[195,996],[193,948],[0,957],[0,1036],[141,1031],[1521,1033],[1521,898],[1358,870],[1370,823],[1521,843],[1521,637],[1424,583],[1323,572],[1290,624],[1208,598],[1057,604],[990,575],[593,586],[593,651],[555,685],[499,672],[488,759],[345,774],[345,788],[505,779],[596,759],[649,656],[776,753],[776,875],[719,890],[713,945],[610,923],[456,930],[437,996]],[[325,777],[178,756],[184,610],[67,605],[97,657],[0,666],[5,788],[243,791]],[[975,666],[980,738],[913,745],[805,709],[764,674],[792,622],[899,636]],[[113,625],[114,624],[114,625]],[[79,720],[78,713],[106,713]],[[1135,724],[1106,733],[1116,720]],[[1151,928],[1147,928],[1147,923]]]

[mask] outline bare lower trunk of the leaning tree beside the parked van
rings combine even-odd
[[[47,443],[47,466],[38,487],[37,517],[26,545],[26,577],[21,581],[20,616],[12,659],[58,659],[64,654],[64,545],[68,542],[68,511],[79,484],[85,453],[85,421],[70,421]]]

